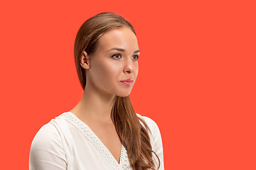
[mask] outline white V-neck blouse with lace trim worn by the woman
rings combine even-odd
[[[137,114],[149,126],[151,146],[164,169],[163,145],[156,123]],[[132,170],[127,150],[122,145],[119,163],[88,125],[71,112],[66,112],[37,132],[31,144],[29,169],[38,170]]]

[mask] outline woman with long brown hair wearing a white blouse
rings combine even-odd
[[[117,13],[82,24],[75,64],[84,94],[38,131],[30,169],[164,169],[159,128],[129,100],[138,57],[134,28]]]

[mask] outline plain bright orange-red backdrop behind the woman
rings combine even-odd
[[[137,31],[132,103],[159,125],[165,169],[256,169],[252,2],[1,2],[1,169],[28,169],[39,128],[80,100],[75,35],[103,11]]]

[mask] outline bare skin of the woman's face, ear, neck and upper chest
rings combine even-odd
[[[118,48],[118,49],[117,49]],[[122,144],[111,120],[114,96],[129,96],[137,79],[139,46],[129,28],[114,28],[102,35],[93,54],[83,52],[80,59],[85,69],[84,94],[74,113],[87,124],[119,162]],[[122,84],[133,79],[132,86]]]

